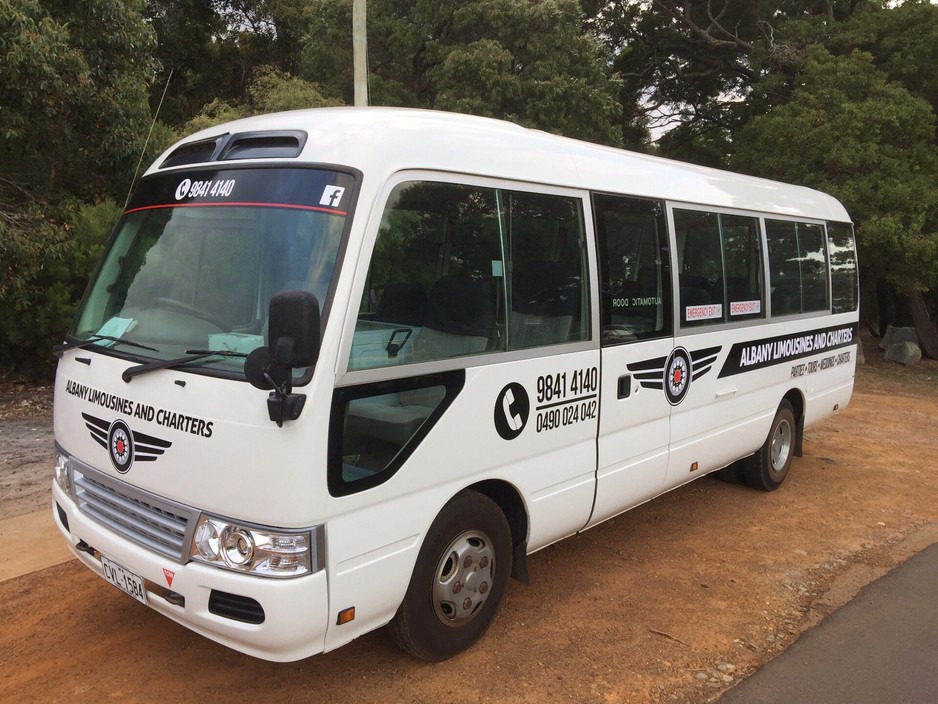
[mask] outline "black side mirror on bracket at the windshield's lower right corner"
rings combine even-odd
[[[311,367],[319,359],[319,301],[308,291],[283,291],[270,299],[267,347],[258,347],[244,361],[251,385],[271,391],[267,409],[272,421],[296,420],[306,396],[292,393],[292,370]]]

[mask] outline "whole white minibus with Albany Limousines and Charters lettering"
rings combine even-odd
[[[441,660],[531,553],[717,470],[781,485],[857,301],[807,188],[465,115],[231,122],[149,168],[55,350],[54,518],[236,650],[391,624]]]

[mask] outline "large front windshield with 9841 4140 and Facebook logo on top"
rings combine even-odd
[[[217,351],[197,366],[240,372],[240,358],[265,344],[275,293],[310,291],[322,312],[353,184],[349,174],[313,169],[145,180],[85,295],[72,338],[135,359]]]

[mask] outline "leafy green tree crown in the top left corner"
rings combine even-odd
[[[129,183],[150,121],[153,34],[142,9],[0,0],[0,177],[51,199]]]

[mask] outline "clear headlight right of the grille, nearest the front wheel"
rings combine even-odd
[[[300,577],[322,569],[322,527],[287,531],[231,523],[203,514],[195,528],[193,560],[265,577]]]

